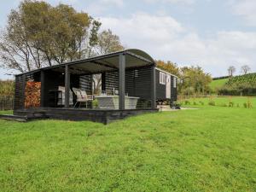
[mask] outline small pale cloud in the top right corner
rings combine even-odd
[[[247,25],[256,26],[256,1],[238,0],[233,2],[233,11],[247,21]]]

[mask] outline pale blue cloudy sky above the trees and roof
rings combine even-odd
[[[125,48],[143,49],[178,67],[198,65],[212,77],[248,65],[256,72],[256,0],[47,0],[66,3],[102,22]],[[2,0],[0,28],[20,0]],[[11,79],[0,68],[0,79]]]

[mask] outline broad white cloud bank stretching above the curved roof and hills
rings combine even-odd
[[[223,31],[201,38],[171,16],[145,13],[101,20],[102,28],[113,30],[126,47],[143,49],[155,59],[198,64],[214,76],[225,75],[230,65],[247,64],[256,71],[256,32]]]

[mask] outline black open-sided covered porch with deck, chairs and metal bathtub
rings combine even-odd
[[[97,93],[93,88],[95,75],[102,80]],[[28,82],[40,85],[37,105],[27,105],[27,100],[31,101],[27,95],[33,95],[27,93]],[[85,96],[85,105],[80,105],[79,99]],[[40,112],[53,119],[108,123],[109,119],[157,111],[155,104],[154,60],[139,49],[71,61],[16,76],[16,115]]]

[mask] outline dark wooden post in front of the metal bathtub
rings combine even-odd
[[[125,54],[119,54],[119,110],[125,109]]]

